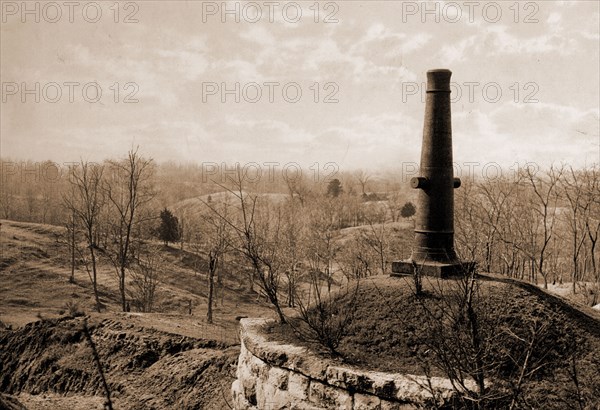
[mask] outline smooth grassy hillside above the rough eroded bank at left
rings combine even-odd
[[[59,317],[67,310],[68,303],[93,313],[93,293],[85,269],[77,269],[75,283],[68,280],[70,259],[63,228],[7,220],[1,223],[0,321],[20,325],[37,320],[39,315]],[[164,268],[160,273],[156,311],[170,318],[179,315],[186,322],[192,301],[193,319],[203,321],[207,304],[205,261],[178,248],[159,250]],[[224,273],[223,293],[218,297],[215,311],[215,323],[233,329],[234,333],[236,316],[270,314],[267,305],[256,300],[256,294],[248,290],[240,276]],[[119,312],[114,268],[102,254],[98,283],[105,306],[103,314]]]

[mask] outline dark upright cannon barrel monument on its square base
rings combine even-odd
[[[392,275],[421,274],[447,277],[458,274],[461,263],[454,251],[454,178],[450,76],[445,69],[427,72],[425,124],[420,176],[412,178],[418,189],[415,239],[410,259],[392,262]]]

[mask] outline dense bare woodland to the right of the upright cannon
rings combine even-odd
[[[554,165],[465,181],[455,191],[457,247],[480,268],[599,300],[600,169]],[[579,282],[592,282],[581,283]]]

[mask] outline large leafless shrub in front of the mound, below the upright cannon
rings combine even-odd
[[[430,375],[431,367],[437,368],[449,379],[458,399],[452,408],[529,408],[535,395],[530,383],[574,358],[573,329],[564,315],[540,312],[528,300],[502,303],[513,287],[490,294],[474,265],[463,268],[460,278],[428,278],[427,292],[413,290],[422,325],[410,335],[425,347],[418,353],[423,370]],[[404,321],[378,291],[390,313]],[[424,388],[436,396],[431,384]]]

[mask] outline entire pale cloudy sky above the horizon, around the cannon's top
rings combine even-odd
[[[3,158],[398,166],[449,68],[457,163],[600,160],[597,1],[23,4],[2,2]]]

